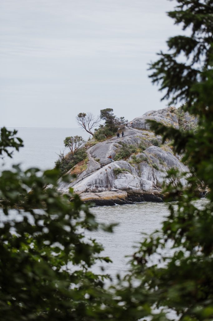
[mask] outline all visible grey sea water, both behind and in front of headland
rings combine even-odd
[[[80,135],[87,139],[89,135],[77,128],[17,128],[18,136],[24,140],[20,152],[14,152],[12,160],[4,159],[5,165],[0,169],[11,168],[12,164],[21,163],[23,169],[38,167],[49,169],[54,167],[57,153],[63,151],[63,140],[67,136]],[[12,130],[12,128],[11,128]],[[201,205],[204,200],[198,201]],[[114,276],[123,274],[127,262],[134,253],[133,246],[143,239],[142,233],[150,234],[159,229],[163,219],[168,215],[168,205],[165,203],[139,203],[134,205],[117,205],[92,208],[99,222],[118,223],[114,233],[103,231],[92,232],[91,237],[103,244],[103,255],[109,256],[113,263],[104,264],[105,272]],[[100,266],[95,267],[100,272]]]

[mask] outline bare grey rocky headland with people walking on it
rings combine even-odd
[[[65,193],[72,187],[84,202],[99,206],[163,202],[162,185],[169,183],[166,171],[176,168],[182,173],[188,169],[181,162],[181,156],[173,153],[170,142],[162,144],[161,136],[155,136],[150,130],[148,119],[175,128],[180,126],[177,109],[169,107],[146,112],[130,121],[128,126],[122,126],[119,132],[123,131],[124,137],[115,135],[103,142],[93,138],[85,145],[88,161],[84,166],[80,162],[69,170],[70,182],[59,179],[59,191]],[[196,119],[187,113],[181,116],[181,126],[191,123],[196,124]],[[123,146],[133,148],[134,152],[124,159],[108,160],[109,155],[118,159]],[[185,179],[180,180],[185,186]]]

